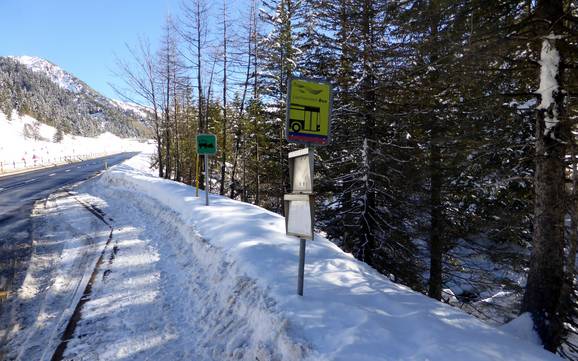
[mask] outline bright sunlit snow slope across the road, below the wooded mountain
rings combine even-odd
[[[141,151],[147,145],[135,139],[103,133],[95,138],[64,134],[55,142],[56,129],[36,119],[0,111],[0,173],[22,168],[62,163],[79,157],[96,157],[125,151]],[[27,137],[28,135],[28,137]]]

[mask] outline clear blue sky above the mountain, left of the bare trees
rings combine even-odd
[[[181,0],[0,0],[0,56],[50,60],[97,91],[118,98],[115,54],[139,35],[155,44]]]

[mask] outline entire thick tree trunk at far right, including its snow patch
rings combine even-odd
[[[566,142],[570,131],[564,119],[564,97],[558,64],[554,64],[558,49],[554,34],[563,15],[562,0],[541,0],[536,9],[538,35],[541,37],[541,103],[536,113],[536,173],[534,176],[534,233],[530,271],[522,312],[530,312],[544,348],[555,351],[560,345],[564,315],[559,305],[564,285],[564,216]],[[558,32],[558,35],[561,33]],[[562,56],[559,58],[562,62]],[[547,74],[555,79],[547,81]],[[552,85],[552,83],[555,85]]]

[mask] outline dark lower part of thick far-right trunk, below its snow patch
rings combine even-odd
[[[555,315],[564,281],[564,144],[544,138],[544,114],[538,112],[534,233],[522,312],[530,312],[544,347],[559,344]]]

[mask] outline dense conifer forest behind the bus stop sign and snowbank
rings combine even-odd
[[[530,313],[578,360],[576,1],[184,0],[163,34],[116,67],[160,177],[283,214],[287,86],[324,79],[316,230],[490,324]]]

